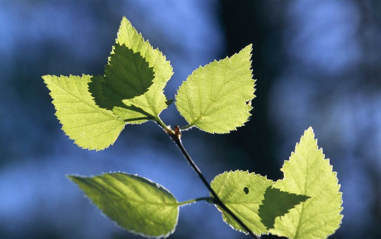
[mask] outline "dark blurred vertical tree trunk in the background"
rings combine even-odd
[[[235,144],[248,159],[242,160],[237,167],[267,175],[273,180],[282,178],[279,166],[274,158],[276,132],[272,132],[271,119],[268,116],[268,98],[272,82],[277,76],[283,61],[280,26],[272,24],[264,15],[266,1],[234,1],[222,0],[220,16],[226,34],[226,52],[223,56],[231,56],[243,47],[253,43],[252,66],[256,81],[256,98],[252,101],[253,114],[245,128],[234,132],[226,138],[229,144]],[[266,4],[267,7],[271,4]],[[282,13],[280,9],[285,3],[277,2],[273,12]],[[268,11],[267,11],[268,12]],[[266,52],[266,54],[264,53]],[[271,54],[269,54],[269,52]],[[232,139],[236,137],[236,140]],[[255,156],[255,158],[253,158]]]

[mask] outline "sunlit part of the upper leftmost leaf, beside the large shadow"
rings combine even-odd
[[[125,123],[98,107],[88,92],[88,83],[98,82],[101,76],[44,75],[42,79],[50,90],[62,130],[74,143],[84,149],[102,150],[115,142]]]

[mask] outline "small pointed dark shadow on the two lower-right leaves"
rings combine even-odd
[[[309,199],[308,196],[280,191],[268,187],[264,194],[262,205],[259,205],[258,215],[267,229],[274,228],[275,218],[285,215],[296,205]]]

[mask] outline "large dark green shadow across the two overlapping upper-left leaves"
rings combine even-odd
[[[136,106],[136,97],[149,90],[154,83],[153,79],[153,67],[149,67],[149,63],[140,52],[134,53],[126,45],[116,44],[109,64],[106,65],[105,76],[91,77],[88,87],[99,107],[109,110],[120,107],[141,114],[141,117],[127,119],[126,122],[150,120],[154,119],[154,116]]]

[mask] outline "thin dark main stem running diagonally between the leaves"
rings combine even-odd
[[[160,124],[159,124],[160,125]],[[169,127],[168,127],[169,128]],[[193,168],[193,170],[197,173],[197,175],[199,176],[199,178],[201,179],[201,181],[205,184],[205,186],[208,188],[208,190],[210,191],[210,193],[212,194],[213,198],[214,198],[214,203],[219,205],[225,212],[229,213],[231,215],[232,218],[234,218],[235,221],[237,221],[237,223],[242,226],[243,229],[245,229],[248,234],[250,234],[250,236],[256,238],[256,239],[261,239],[260,237],[256,236],[246,225],[245,223],[243,223],[242,220],[240,220],[229,208],[226,207],[226,205],[221,201],[221,199],[219,199],[219,197],[217,196],[216,192],[213,190],[213,188],[211,188],[210,184],[208,183],[208,181],[205,179],[204,175],[202,175],[201,173],[201,170],[199,167],[197,167],[197,165],[195,164],[195,162],[192,160],[191,156],[189,156],[188,152],[186,151],[186,149],[184,148],[184,146],[182,145],[182,142],[181,142],[181,133],[180,133],[180,129],[179,127],[176,125],[174,127],[174,130],[171,130],[169,131],[168,128],[164,128],[165,132],[171,137],[171,139],[173,140],[173,142],[178,146],[178,148],[180,149],[180,151],[182,152],[182,154],[184,155],[185,159],[188,161],[189,165],[191,165],[191,167]],[[173,133],[172,133],[173,132]]]

